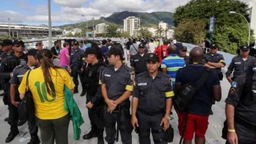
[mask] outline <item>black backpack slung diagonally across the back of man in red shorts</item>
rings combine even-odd
[[[189,105],[195,98],[196,91],[204,84],[206,79],[209,77],[211,70],[208,67],[204,68],[204,73],[201,78],[193,83],[184,84],[181,86],[178,95],[174,99],[174,106],[179,112],[186,112]]]

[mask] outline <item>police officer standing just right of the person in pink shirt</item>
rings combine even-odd
[[[83,76],[81,73],[83,56],[84,56],[84,53],[81,51],[81,49],[79,49],[79,42],[77,41],[74,42],[73,49],[70,55],[70,63],[68,66],[69,67],[68,69],[71,68],[71,75],[73,77],[74,84],[76,85],[74,89],[74,93],[78,93],[78,85],[79,85],[78,76],[80,78],[81,85],[83,87],[83,84],[82,84]],[[83,88],[83,91],[80,96],[84,96],[85,94],[86,92],[84,91],[84,88]]]

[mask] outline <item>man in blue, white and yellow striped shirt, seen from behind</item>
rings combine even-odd
[[[176,50],[177,47],[175,45],[169,45],[167,49],[168,56],[161,63],[162,72],[171,76],[173,87],[175,87],[175,77],[178,69],[186,66],[183,58],[176,55]]]

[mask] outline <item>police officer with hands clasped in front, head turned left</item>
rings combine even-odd
[[[102,95],[107,105],[104,107],[104,120],[106,137],[108,144],[115,141],[116,121],[120,122],[120,133],[123,144],[131,144],[131,131],[125,127],[127,115],[130,116],[129,97],[134,87],[134,72],[131,68],[122,63],[122,50],[118,46],[111,46],[105,53],[110,65],[106,66],[102,74]],[[121,105],[119,105],[121,104]],[[118,109],[119,106],[121,109]],[[120,119],[113,113],[117,109],[121,110]],[[129,120],[131,121],[131,120]],[[128,121],[128,122],[129,122]],[[131,124],[131,122],[129,122]]]

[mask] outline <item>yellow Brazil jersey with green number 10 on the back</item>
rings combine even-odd
[[[35,103],[35,116],[40,119],[57,119],[68,113],[64,111],[64,85],[69,89],[73,89],[75,84],[65,69],[57,69],[57,71],[59,73],[50,68],[52,83],[55,87],[55,92],[52,92],[52,96],[47,92],[41,67],[31,70],[29,74],[28,85]],[[27,73],[19,86],[20,94],[25,93]]]

